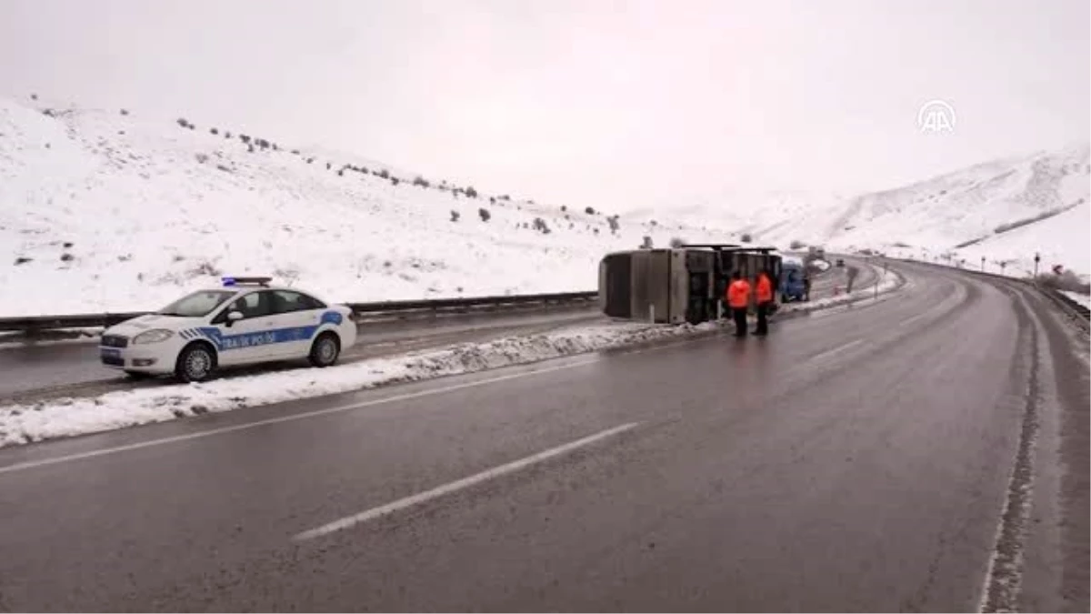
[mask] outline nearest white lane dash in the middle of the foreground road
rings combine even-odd
[[[336,531],[349,529],[351,527],[360,524],[361,522],[368,522],[369,520],[374,520],[376,518],[394,513],[395,511],[405,509],[407,507],[412,507],[415,505],[422,504],[424,501],[434,499],[436,497],[442,497],[444,495],[448,495],[451,493],[461,491],[464,488],[469,488],[470,486],[480,484],[481,482],[493,480],[495,477],[500,477],[508,473],[514,473],[521,469],[526,469],[532,464],[537,464],[542,461],[559,457],[561,454],[572,452],[579,448],[590,446],[591,444],[601,441],[602,439],[606,439],[608,437],[613,437],[614,435],[620,435],[626,430],[636,428],[639,424],[640,423],[638,422],[623,424],[621,426],[616,426],[608,430],[596,433],[595,435],[589,435],[587,437],[584,437],[583,439],[576,439],[575,441],[564,444],[563,446],[550,448],[549,450],[538,452],[537,454],[526,457],[517,461],[512,461],[507,464],[502,464],[500,467],[494,467],[492,469],[482,471],[481,473],[476,473],[468,477],[463,477],[461,480],[449,482],[442,486],[436,486],[435,488],[432,488],[430,491],[424,491],[423,493],[418,493],[416,495],[405,497],[383,506],[373,507],[367,511],[361,511],[360,513],[346,516],[345,518],[335,520],[333,522],[329,522],[328,524],[323,524],[322,527],[303,531],[302,533],[295,535],[292,540],[296,541],[313,540],[315,538],[328,535],[329,533],[334,533]]]

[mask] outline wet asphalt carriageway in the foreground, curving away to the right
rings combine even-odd
[[[971,613],[1012,579],[1088,611],[1051,435],[1083,367],[1036,298],[900,270],[898,300],[764,340],[0,450],[0,612]]]

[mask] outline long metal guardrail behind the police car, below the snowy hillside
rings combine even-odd
[[[556,294],[519,294],[511,296],[478,296],[469,298],[435,298],[423,300],[387,300],[380,303],[345,303],[362,319],[406,318],[445,314],[490,312],[532,306],[567,306],[591,303],[598,292],[564,292]],[[79,314],[71,316],[27,316],[0,318],[0,332],[34,333],[47,330],[106,328],[137,318],[147,311],[122,314]]]

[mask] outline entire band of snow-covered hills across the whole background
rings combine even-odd
[[[1015,274],[1041,252],[1043,269],[1091,273],[1091,146],[855,198],[735,192],[589,213],[132,110],[0,98],[0,316],[152,309],[220,274],[333,300],[590,290],[602,255],[644,236],[985,257]]]

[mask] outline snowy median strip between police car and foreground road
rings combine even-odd
[[[717,324],[711,322],[696,327],[611,323],[456,345],[442,351],[375,358],[327,369],[300,368],[200,385],[172,385],[110,392],[95,398],[8,405],[0,408],[0,448],[188,415],[523,365],[716,329]]]

